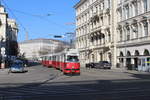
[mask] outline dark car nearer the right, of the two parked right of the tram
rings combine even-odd
[[[111,69],[111,63],[109,63],[108,61],[99,61],[98,63],[95,63],[95,68]]]

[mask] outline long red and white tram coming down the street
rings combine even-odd
[[[64,74],[80,74],[80,63],[76,49],[64,50],[60,53],[48,54],[42,56],[42,64],[47,67],[60,69]]]

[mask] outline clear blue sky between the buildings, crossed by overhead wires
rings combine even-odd
[[[19,24],[18,41],[25,40],[25,31],[20,22],[29,32],[29,39],[52,38],[48,34],[65,34],[74,32],[75,25],[66,25],[68,22],[75,22],[75,9],[73,6],[79,0],[3,0],[8,9],[10,18],[16,19]],[[2,4],[5,5],[3,2]],[[31,14],[31,15],[29,15]],[[44,18],[32,15],[46,15]],[[19,21],[18,21],[19,20]]]

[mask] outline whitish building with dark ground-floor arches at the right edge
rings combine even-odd
[[[148,71],[150,0],[118,0],[117,15],[117,62],[129,69]]]

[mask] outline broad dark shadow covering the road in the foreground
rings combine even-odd
[[[150,74],[130,75],[138,79],[50,82],[55,75],[41,83],[1,87],[0,100],[149,100]]]

